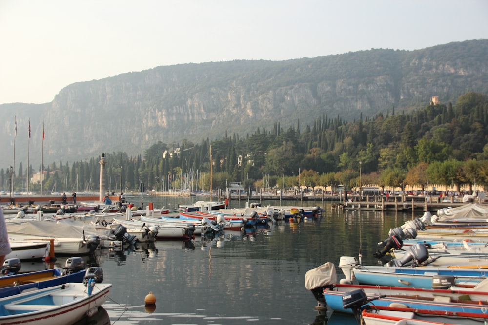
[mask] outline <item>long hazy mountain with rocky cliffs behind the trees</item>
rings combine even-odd
[[[415,51],[371,49],[286,61],[235,60],[161,66],[71,84],[45,104],[0,105],[1,167],[73,162],[102,152],[143,153],[157,141],[199,143],[225,133],[246,136],[280,122],[305,125],[317,116],[408,111],[432,96],[455,102],[488,94],[488,40]],[[44,121],[45,141],[42,143]],[[43,150],[42,150],[43,147]],[[16,171],[17,172],[17,171]]]

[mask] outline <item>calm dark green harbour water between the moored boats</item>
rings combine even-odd
[[[129,200],[141,203],[141,197]],[[174,207],[196,200],[145,196],[144,205]],[[282,202],[293,204],[322,206],[320,201]],[[244,206],[231,201],[231,208]],[[339,212],[330,206],[325,202],[325,215],[318,222],[271,225],[255,234],[225,232],[189,243],[158,241],[138,245],[135,251],[102,251],[98,259],[104,282],[113,284],[111,300],[97,320],[80,324],[355,324],[352,317],[319,315],[315,298],[305,289],[305,272],[329,261],[337,266],[341,256],[357,256],[359,249],[364,264],[376,264],[372,254],[377,243],[412,215]],[[344,277],[340,269],[337,274]],[[149,292],[156,296],[155,310],[145,309]]]

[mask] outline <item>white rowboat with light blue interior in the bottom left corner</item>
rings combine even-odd
[[[112,284],[65,283],[0,299],[0,324],[73,324],[98,311]]]

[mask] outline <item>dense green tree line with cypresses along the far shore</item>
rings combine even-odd
[[[228,134],[220,139],[166,144],[158,141],[143,155],[105,153],[106,183],[111,191],[225,189],[241,182],[245,189],[290,189],[342,184],[428,189],[488,184],[488,100],[469,92],[457,103],[430,103],[409,113],[395,108],[374,117],[346,121],[324,113],[313,124],[287,128],[281,122],[258,127],[252,134]],[[210,158],[212,163],[210,163]],[[100,156],[85,161],[55,162],[45,170],[43,191],[98,189]],[[30,167],[15,175],[22,191]],[[54,172],[58,171],[58,172]],[[212,177],[210,179],[210,171]],[[11,172],[1,169],[2,190]],[[360,184],[361,183],[361,184]],[[30,184],[40,191],[40,182]]]

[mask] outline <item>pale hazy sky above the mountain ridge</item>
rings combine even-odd
[[[0,0],[0,104],[161,65],[488,39],[488,0]]]

